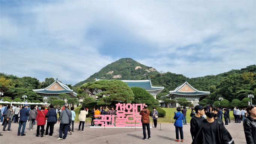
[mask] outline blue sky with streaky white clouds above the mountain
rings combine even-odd
[[[0,72],[67,84],[120,58],[186,77],[256,64],[256,1],[0,1]]]

